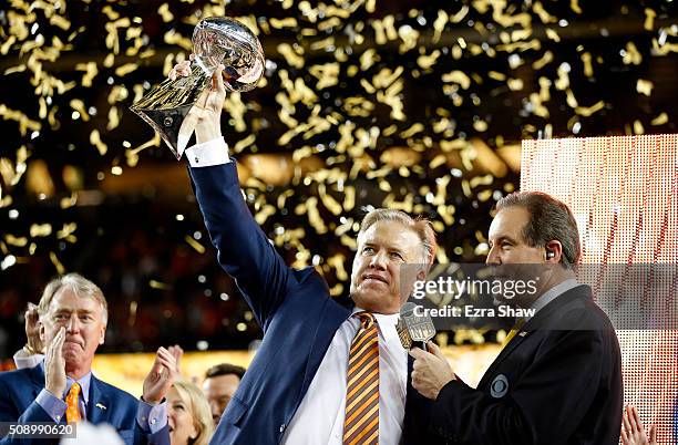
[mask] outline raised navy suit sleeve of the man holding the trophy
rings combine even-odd
[[[288,293],[291,269],[251,216],[238,184],[236,163],[189,168],[191,178],[219,265],[266,331]]]

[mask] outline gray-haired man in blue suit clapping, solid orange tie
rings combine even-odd
[[[52,280],[40,300],[44,361],[0,374],[0,422],[28,424],[88,421],[107,423],[126,444],[170,445],[164,396],[176,374],[172,354],[161,348],[144,381],[144,395],[132,395],[96,379],[92,360],[104,342],[107,310],[101,289],[76,273]],[[45,444],[7,435],[0,444]]]

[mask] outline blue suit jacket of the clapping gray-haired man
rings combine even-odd
[[[0,422],[49,422],[54,421],[35,402],[44,389],[44,372],[37,365],[23,370],[0,373]],[[103,407],[102,407],[103,406]],[[144,433],[136,422],[138,401],[92,375],[86,405],[86,418],[92,424],[107,423],[117,430],[125,444],[170,445],[168,428],[155,434]],[[62,420],[64,423],[65,420]],[[28,439],[6,436],[0,444],[38,445],[58,443],[59,439]]]

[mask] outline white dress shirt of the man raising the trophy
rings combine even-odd
[[[192,167],[226,164],[228,146],[223,137],[186,149]],[[361,310],[356,308],[353,313]],[[396,324],[398,314],[376,313],[379,333],[379,443],[396,445],[402,436],[408,385],[408,351],[402,348]],[[346,408],[348,360],[360,320],[346,320],[327,349],[301,404],[287,426],[285,445],[341,445]]]

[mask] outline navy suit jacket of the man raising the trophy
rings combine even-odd
[[[278,444],[351,306],[332,299],[314,268],[285,263],[243,199],[235,162],[189,168],[189,174],[218,261],[264,330],[212,443]],[[420,404],[425,400],[408,383],[403,435],[409,443],[417,443],[408,438],[417,420],[407,412]]]

